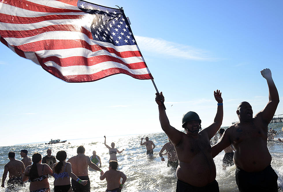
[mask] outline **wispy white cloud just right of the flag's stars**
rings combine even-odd
[[[140,50],[153,54],[162,54],[167,57],[178,57],[189,60],[217,61],[209,52],[187,45],[169,42],[164,39],[135,36]]]

